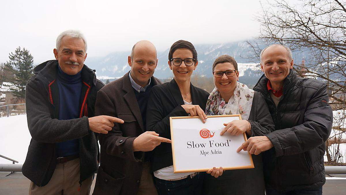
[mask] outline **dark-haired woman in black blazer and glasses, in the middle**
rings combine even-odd
[[[152,88],[147,107],[147,130],[171,139],[169,117],[199,116],[205,122],[209,93],[190,82],[198,65],[197,51],[190,42],[173,43],[168,59],[174,78]],[[161,143],[153,150],[151,167],[158,194],[201,194],[205,173],[173,173],[171,144]]]

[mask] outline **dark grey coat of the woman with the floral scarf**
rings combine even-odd
[[[275,130],[264,97],[255,92],[248,121],[251,123],[251,136],[263,136]],[[222,176],[215,178],[206,174],[203,183],[204,195],[264,195],[264,176],[262,153],[252,154],[254,169],[226,170]]]

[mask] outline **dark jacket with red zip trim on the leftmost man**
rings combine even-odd
[[[94,71],[84,65],[80,118],[58,120],[57,66],[57,60],[38,65],[26,85],[26,110],[32,138],[22,173],[37,186],[46,185],[52,178],[57,158],[55,143],[58,142],[79,139],[80,184],[98,168],[99,146],[96,135],[89,129],[88,117],[94,116],[96,94],[104,85],[96,79]]]

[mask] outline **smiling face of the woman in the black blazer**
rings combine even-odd
[[[179,48],[174,51],[172,57],[184,60],[186,58],[193,58],[193,55],[191,50]],[[198,61],[193,62],[192,66],[186,66],[184,61],[181,62],[180,66],[174,66],[172,61],[168,61],[168,65],[173,71],[176,82],[190,82],[192,72],[196,69]]]

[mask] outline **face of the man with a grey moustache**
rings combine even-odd
[[[54,49],[53,52],[64,73],[75,75],[83,68],[86,53],[82,39],[64,36],[59,48]]]

